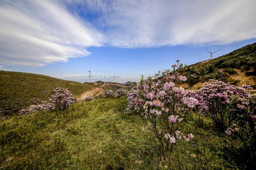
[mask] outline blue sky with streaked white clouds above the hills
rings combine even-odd
[[[0,1],[0,69],[125,83],[256,42],[252,0]]]

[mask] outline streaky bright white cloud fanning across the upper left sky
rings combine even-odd
[[[87,56],[102,34],[59,3],[47,0],[0,2],[0,59],[10,65],[42,66]]]

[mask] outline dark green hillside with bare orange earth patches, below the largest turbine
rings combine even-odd
[[[249,84],[256,88],[256,43],[218,58],[190,65],[185,76],[190,87],[209,79],[221,79],[233,85]]]

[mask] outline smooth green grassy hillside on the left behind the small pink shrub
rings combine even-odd
[[[58,86],[67,88],[74,97],[80,97],[83,92],[94,88],[50,76],[0,71],[0,111],[17,112],[30,104],[39,104],[47,99],[49,90]]]

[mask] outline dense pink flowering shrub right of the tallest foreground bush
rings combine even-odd
[[[199,111],[201,114],[210,117],[216,127],[225,130],[236,119],[235,113],[227,106],[230,104],[232,95],[248,99],[250,94],[246,88],[230,85],[219,80],[210,80],[197,92]]]

